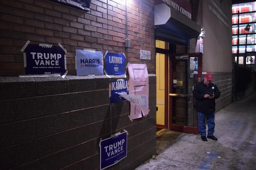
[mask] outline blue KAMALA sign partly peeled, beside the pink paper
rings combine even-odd
[[[109,82],[110,103],[117,103],[126,100],[117,93],[129,94],[129,80],[119,80]]]

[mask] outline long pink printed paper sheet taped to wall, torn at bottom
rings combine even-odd
[[[131,103],[130,119],[137,119],[149,113],[149,76],[146,64],[127,64],[129,71],[129,95],[146,95],[147,108]],[[142,114],[141,114],[142,113]]]

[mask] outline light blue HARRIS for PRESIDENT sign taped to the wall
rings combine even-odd
[[[103,75],[103,61],[101,51],[75,50],[76,75]]]

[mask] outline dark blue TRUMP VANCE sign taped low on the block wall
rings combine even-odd
[[[99,147],[100,170],[115,165],[127,156],[127,132],[101,140]]]

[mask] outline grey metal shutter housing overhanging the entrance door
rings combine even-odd
[[[201,33],[201,26],[165,3],[155,5],[155,26],[166,30],[166,34],[174,33],[189,39],[198,38]]]

